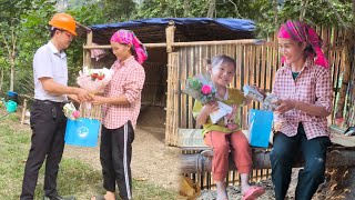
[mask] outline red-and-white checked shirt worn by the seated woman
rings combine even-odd
[[[285,66],[277,70],[273,93],[280,99],[295,99],[298,101],[322,106],[332,112],[333,88],[331,71],[315,66],[307,60],[295,80],[291,67]],[[316,137],[328,137],[327,119],[307,114],[304,111],[292,109],[275,116],[275,129],[288,137],[297,133],[298,123],[302,122],[308,140]]]

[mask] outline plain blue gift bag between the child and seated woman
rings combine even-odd
[[[251,109],[248,112],[250,144],[252,147],[267,148],[272,126],[272,111]]]

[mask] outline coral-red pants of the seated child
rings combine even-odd
[[[205,134],[204,142],[213,149],[212,174],[215,181],[222,181],[226,177],[230,150],[239,172],[251,172],[252,151],[242,131],[233,133],[211,131]]]

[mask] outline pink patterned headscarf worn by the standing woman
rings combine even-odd
[[[143,43],[135,37],[134,32],[131,30],[120,29],[112,37],[111,40],[118,43],[131,44],[135,51],[135,60],[139,63],[143,63],[148,58],[148,52]]]

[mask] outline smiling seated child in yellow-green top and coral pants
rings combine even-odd
[[[229,88],[235,74],[235,61],[225,56],[215,56],[209,66],[211,80],[215,88],[215,99],[231,106],[232,111],[217,122],[211,121],[210,114],[220,109],[217,101],[213,100],[205,104],[195,101],[193,116],[199,124],[203,124],[204,142],[213,149],[212,174],[217,187],[217,200],[227,199],[225,177],[229,170],[229,153],[241,173],[241,187],[243,200],[252,200],[263,194],[261,187],[252,187],[248,183],[252,170],[252,152],[246,137],[240,127],[239,107],[251,100],[244,98],[237,89]],[[209,87],[202,89],[204,93],[211,93]]]

